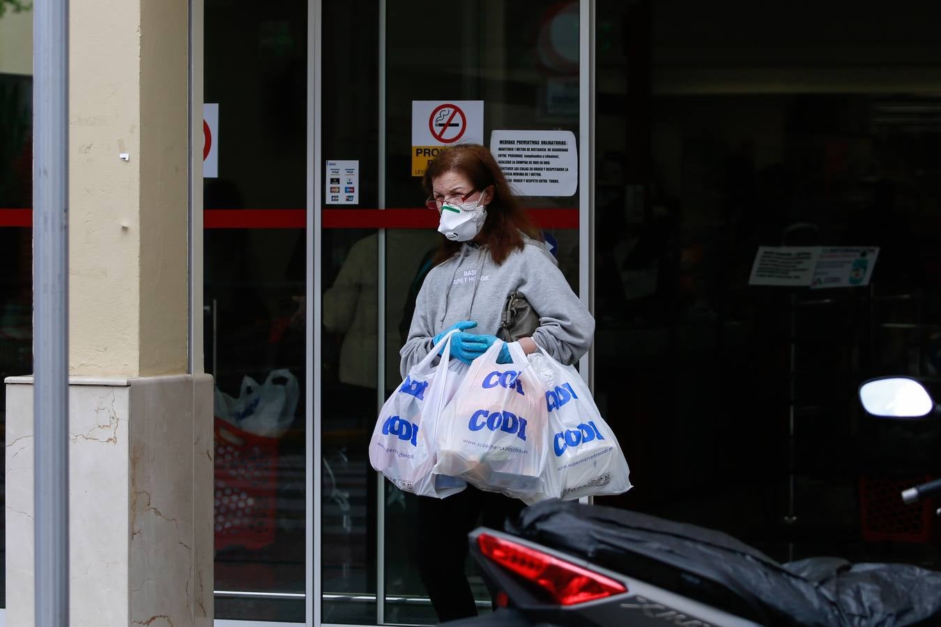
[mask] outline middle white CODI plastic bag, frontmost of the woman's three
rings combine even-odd
[[[521,497],[542,492],[546,397],[526,354],[507,344],[513,362],[498,364],[497,340],[470,365],[439,419],[434,472],[481,490]]]

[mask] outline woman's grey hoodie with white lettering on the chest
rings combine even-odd
[[[468,333],[495,336],[506,295],[513,290],[522,292],[539,314],[533,339],[543,350],[563,364],[574,364],[588,351],[595,319],[546,247],[529,238],[524,242],[523,250],[514,250],[499,266],[486,248],[465,243],[428,273],[400,351],[403,378],[431,351],[432,338],[456,321],[477,322]]]

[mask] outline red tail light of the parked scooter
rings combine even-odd
[[[560,605],[597,601],[627,592],[620,582],[514,541],[482,533],[477,546],[488,559],[549,592]]]

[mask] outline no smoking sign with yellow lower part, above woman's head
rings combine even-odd
[[[484,101],[412,101],[412,176],[441,148],[484,143]]]

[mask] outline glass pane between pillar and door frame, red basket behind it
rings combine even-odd
[[[204,0],[215,618],[303,621],[308,8]]]

